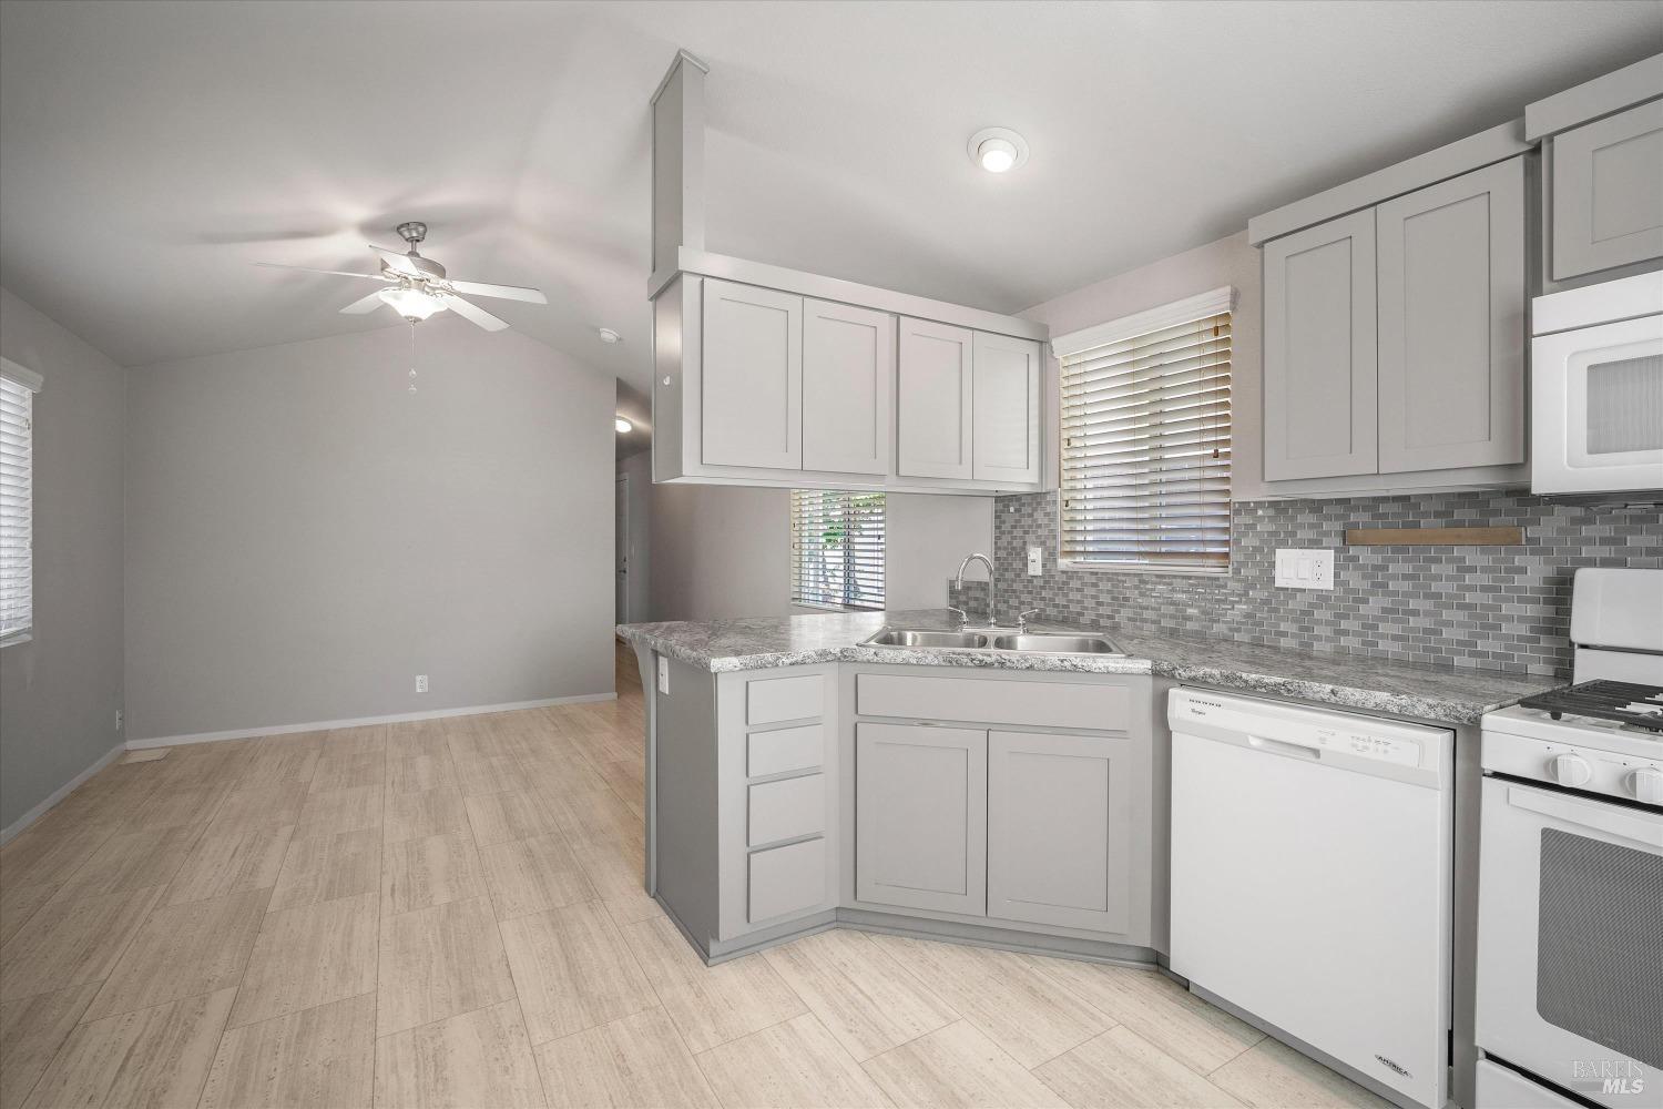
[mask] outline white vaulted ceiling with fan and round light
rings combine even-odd
[[[649,376],[647,98],[710,63],[708,248],[1016,311],[1663,48],[1635,3],[0,5],[0,281],[116,361],[386,326],[366,239]],[[1021,131],[993,176],[971,131]],[[604,346],[597,326],[624,334]]]

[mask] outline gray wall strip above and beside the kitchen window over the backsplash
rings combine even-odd
[[[1162,258],[1157,263],[1096,281],[1073,293],[1034,304],[1028,319],[1051,324],[1051,334],[1068,334],[1093,324],[1171,304],[1221,284],[1236,288],[1231,316],[1231,434],[1236,471],[1231,490],[1236,500],[1264,495],[1262,372],[1259,251],[1247,244],[1247,233]],[[1048,396],[1056,394],[1056,361],[1046,359],[1053,374]],[[1051,412],[1056,427],[1056,412]],[[1054,466],[1054,459],[1051,461]]]

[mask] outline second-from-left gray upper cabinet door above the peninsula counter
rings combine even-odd
[[[890,472],[895,316],[803,301],[803,469]]]

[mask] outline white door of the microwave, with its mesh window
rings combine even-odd
[[[1663,489],[1663,316],[1532,343],[1530,490]]]

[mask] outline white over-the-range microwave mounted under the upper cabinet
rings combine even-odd
[[[1663,273],[1532,303],[1530,490],[1663,499]]]

